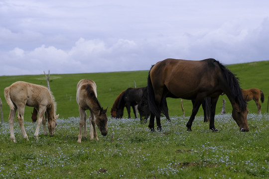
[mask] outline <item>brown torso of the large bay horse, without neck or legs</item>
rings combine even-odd
[[[219,93],[220,89],[215,87],[221,70],[214,62],[214,59],[160,61],[149,72],[153,89],[167,88],[173,95],[185,99],[192,99],[198,92],[210,91],[209,89]]]

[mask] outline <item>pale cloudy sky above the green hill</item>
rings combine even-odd
[[[269,60],[269,0],[0,0],[0,76]]]

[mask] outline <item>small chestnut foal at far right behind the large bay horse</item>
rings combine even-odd
[[[252,89],[242,89],[244,99],[248,102],[252,99],[255,101],[257,108],[258,108],[258,114],[261,114],[261,104],[260,104],[260,97],[261,101],[264,102],[265,95],[264,92],[261,89],[252,88]]]

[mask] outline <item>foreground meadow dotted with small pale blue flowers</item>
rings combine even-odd
[[[138,120],[109,117],[108,135],[77,143],[79,118],[58,119],[55,135],[34,139],[35,124],[25,122],[29,141],[9,139],[0,124],[2,179],[266,179],[269,178],[269,116],[249,114],[250,132],[240,132],[231,113],[216,116],[211,132],[203,116],[186,132],[188,117],[162,118],[163,130],[150,132]],[[89,125],[88,125],[89,129]]]

